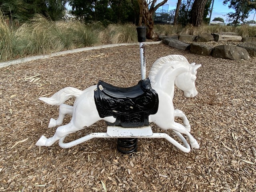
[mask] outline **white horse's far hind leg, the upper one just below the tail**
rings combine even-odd
[[[59,117],[57,120],[51,118],[48,128],[55,127],[57,125],[61,125],[63,122],[63,119],[66,114],[73,115],[73,106],[67,105],[67,104],[61,104],[59,109]]]

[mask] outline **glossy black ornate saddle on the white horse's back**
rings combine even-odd
[[[148,116],[158,111],[158,94],[149,78],[136,86],[120,88],[99,81],[94,90],[96,108],[101,118],[114,116],[114,125],[122,127],[148,126]]]

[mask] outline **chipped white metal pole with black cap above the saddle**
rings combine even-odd
[[[146,27],[137,27],[138,42],[140,42],[140,71],[141,79],[146,79],[146,59],[145,59],[145,41],[146,41]]]

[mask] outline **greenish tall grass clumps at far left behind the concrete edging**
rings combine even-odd
[[[52,22],[41,15],[14,29],[0,15],[0,60],[92,46],[99,42],[98,35],[81,22]]]

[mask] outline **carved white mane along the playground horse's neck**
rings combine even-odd
[[[166,62],[170,63],[170,66],[172,66],[172,64],[174,64],[173,62],[170,62],[170,61],[178,61],[179,64],[182,63],[187,66],[190,65],[188,60],[182,55],[168,55],[165,57],[161,57],[153,63],[151,70],[149,72],[150,82],[152,84],[155,83],[155,78],[156,78],[158,71],[162,68],[162,66],[164,64],[166,64]],[[175,63],[175,64],[178,64],[178,63]]]

